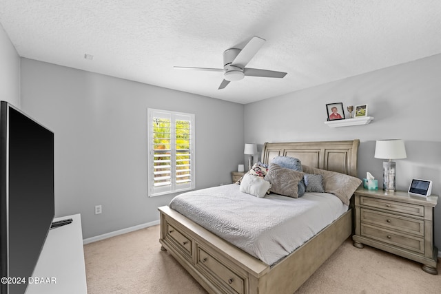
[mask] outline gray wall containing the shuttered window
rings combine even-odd
[[[21,59],[21,106],[55,134],[56,215],[81,213],[83,238],[158,220],[174,196],[147,197],[147,107],[195,114],[197,189],[243,162],[237,103]]]

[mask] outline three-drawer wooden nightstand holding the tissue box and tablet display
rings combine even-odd
[[[355,192],[353,246],[363,244],[422,263],[438,275],[438,249],[433,245],[433,208],[438,196],[411,196],[404,191]]]

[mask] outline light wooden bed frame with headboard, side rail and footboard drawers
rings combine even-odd
[[[359,140],[265,143],[262,161],[299,158],[302,165],[357,176]],[[161,249],[209,293],[294,293],[352,233],[352,209],[286,258],[269,266],[169,207],[159,207]]]

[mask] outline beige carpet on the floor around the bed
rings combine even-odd
[[[159,226],[84,246],[89,294],[207,293],[183,267],[161,251]],[[441,293],[440,275],[420,264],[348,239],[297,293]]]

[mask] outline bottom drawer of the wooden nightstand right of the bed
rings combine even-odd
[[[366,238],[378,240],[393,246],[401,247],[403,249],[424,253],[424,239],[406,235],[379,227],[374,227],[369,224],[361,224],[361,235]]]

